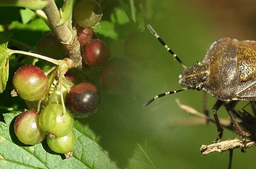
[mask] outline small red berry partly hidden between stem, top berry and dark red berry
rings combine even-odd
[[[93,29],[79,27],[77,29],[77,40],[80,43],[80,46],[84,46],[88,41],[93,38]]]

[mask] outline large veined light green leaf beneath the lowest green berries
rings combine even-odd
[[[21,112],[4,114],[5,123],[0,122],[0,168],[5,169],[118,169],[95,140],[95,135],[79,121],[74,124],[73,131],[77,141],[73,157],[62,159],[53,153],[45,143],[35,146],[19,146],[15,142],[14,117]],[[15,142],[15,143],[14,143]],[[44,146],[43,146],[44,145]],[[47,151],[45,151],[45,149]],[[50,153],[49,153],[50,152]]]

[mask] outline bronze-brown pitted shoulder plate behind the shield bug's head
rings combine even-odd
[[[209,76],[203,89],[220,100],[230,100],[239,86],[237,52],[239,43],[236,39],[223,38],[215,41],[203,63],[207,65]]]

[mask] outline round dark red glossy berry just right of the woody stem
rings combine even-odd
[[[92,39],[81,48],[81,56],[85,64],[91,67],[102,66],[109,59],[109,48],[100,39]]]

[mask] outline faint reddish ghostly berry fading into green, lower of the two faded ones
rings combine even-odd
[[[112,59],[100,72],[100,84],[109,94],[121,95],[131,90],[135,68],[123,59]]]

